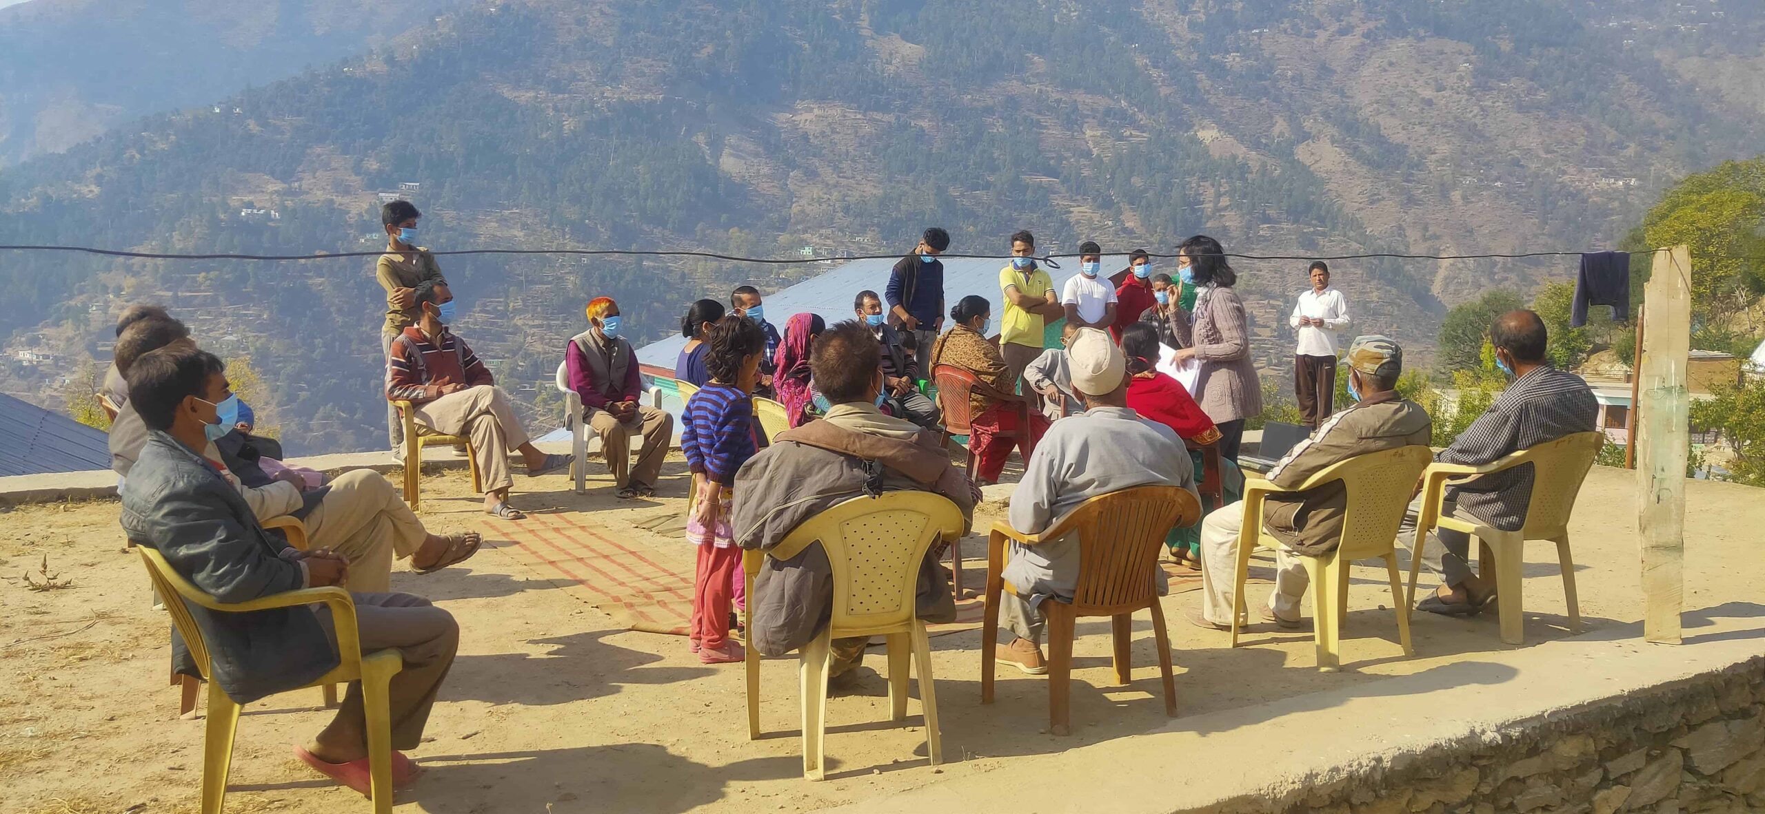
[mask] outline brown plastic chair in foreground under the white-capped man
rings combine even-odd
[[[995,522],[987,539],[987,618],[981,624],[981,703],[992,703],[994,654],[999,648],[1001,592],[1017,596],[1004,581],[1006,541],[1034,546],[1066,534],[1078,534],[1078,587],[1071,601],[1048,599],[1048,731],[1066,735],[1071,719],[1073,627],[1078,617],[1110,617],[1115,636],[1115,684],[1131,680],[1133,611],[1153,611],[1158,670],[1165,678],[1165,715],[1177,715],[1177,684],[1170,675],[1170,636],[1158,603],[1158,551],[1172,527],[1200,518],[1200,504],[1181,486],[1135,486],[1098,495],[1041,534],[1024,534]]]

